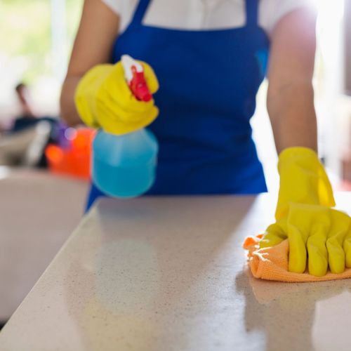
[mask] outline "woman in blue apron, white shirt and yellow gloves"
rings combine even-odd
[[[277,223],[262,245],[287,237],[291,212],[303,211],[298,244],[289,238],[289,269],[303,272],[305,238],[325,217],[317,251],[307,246],[310,272],[323,275],[334,200],[316,153],[314,51],[315,14],[307,0],[86,0],[62,88],[62,116],[117,134],[148,126],[160,145],[149,194],[265,192],[249,119],[268,62],[280,190]],[[124,53],[144,61],[151,102],[128,93],[121,64],[113,65]],[[101,195],[93,186],[89,206]],[[340,244],[337,249],[343,251]],[[345,261],[351,265],[351,258],[342,261],[336,270]]]

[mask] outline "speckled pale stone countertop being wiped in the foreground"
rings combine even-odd
[[[351,212],[351,194],[338,206]],[[351,350],[351,280],[258,281],[241,242],[274,198],[102,199],[0,333],[1,351]]]

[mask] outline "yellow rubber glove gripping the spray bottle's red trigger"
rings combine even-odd
[[[145,62],[147,86],[152,94],[159,89],[153,69]],[[124,78],[121,62],[116,65],[97,65],[81,78],[74,101],[81,120],[107,133],[126,134],[143,128],[154,121],[159,110],[154,100],[137,100]]]

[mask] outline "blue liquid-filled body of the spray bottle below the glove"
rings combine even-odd
[[[154,183],[158,150],[147,129],[124,135],[100,130],[93,140],[93,182],[111,197],[137,197]]]

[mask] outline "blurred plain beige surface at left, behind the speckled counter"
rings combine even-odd
[[[77,227],[87,192],[81,180],[0,166],[0,322]]]

